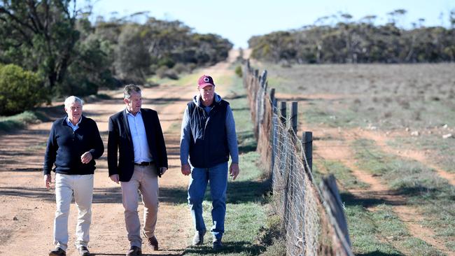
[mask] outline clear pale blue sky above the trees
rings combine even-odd
[[[148,15],[163,20],[180,20],[198,33],[214,33],[228,38],[236,48],[248,47],[248,38],[272,31],[298,29],[313,24],[318,17],[339,12],[359,20],[377,15],[377,24],[388,21],[387,13],[405,9],[401,24],[424,18],[425,26],[449,26],[449,12],[454,0],[95,0],[94,15],[111,17],[148,11]],[[85,5],[78,0],[79,7]],[[442,15],[441,15],[442,13]]]

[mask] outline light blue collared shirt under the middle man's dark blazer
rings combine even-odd
[[[133,141],[134,148],[134,162],[152,162],[152,154],[148,148],[146,127],[144,126],[144,120],[142,119],[141,111],[135,116],[130,113],[127,109],[128,125],[130,125],[131,138]]]

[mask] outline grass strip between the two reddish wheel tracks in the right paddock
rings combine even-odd
[[[442,240],[449,250],[455,251],[453,246],[449,247],[455,235],[454,187],[419,162],[381,152],[373,141],[355,141],[353,148],[358,166],[405,196],[407,204],[415,207],[425,218],[421,225],[433,230],[435,239]]]

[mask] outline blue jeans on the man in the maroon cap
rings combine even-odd
[[[204,200],[207,183],[210,182],[211,219],[213,225],[211,234],[217,241],[221,241],[224,233],[224,219],[226,215],[226,189],[228,187],[228,162],[217,164],[211,168],[191,169],[190,185],[188,187],[188,204],[190,205],[193,225],[198,232],[206,232],[202,217],[202,201]]]

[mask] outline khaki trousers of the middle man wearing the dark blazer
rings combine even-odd
[[[144,228],[146,238],[155,235],[155,225],[158,216],[158,174],[155,164],[149,166],[134,166],[130,181],[120,182],[122,187],[123,208],[125,208],[125,224],[127,227],[130,246],[141,248],[141,222],[137,211],[139,192],[144,204]]]

